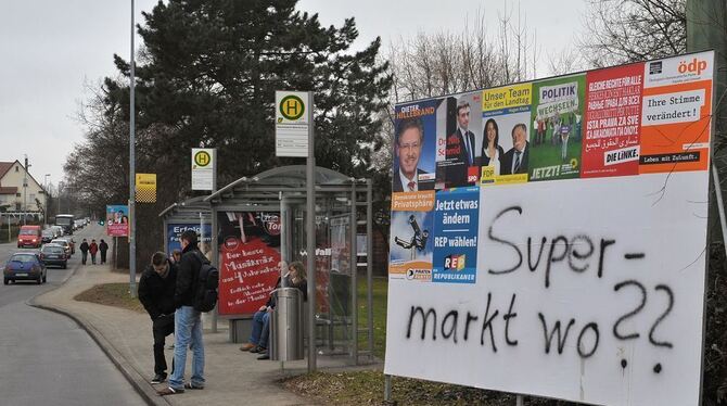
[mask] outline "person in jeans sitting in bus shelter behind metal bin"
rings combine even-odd
[[[281,269],[284,269],[285,263],[281,262]],[[308,281],[306,279],[306,270],[303,263],[296,261],[288,267],[288,274],[284,276],[288,288],[297,288],[303,292],[303,300],[308,300]],[[280,288],[281,278],[278,278],[276,289]],[[275,290],[273,290],[275,292]],[[270,314],[276,308],[277,297],[273,292],[270,292],[270,297],[265,306],[260,306],[259,310],[253,316],[253,332],[250,335],[250,341],[240,347],[240,351],[250,351],[251,353],[259,353],[257,359],[270,359],[268,352],[268,340],[270,337]]]

